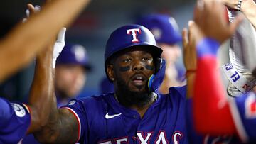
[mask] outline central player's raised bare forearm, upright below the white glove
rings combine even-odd
[[[31,126],[28,133],[37,131],[46,125],[53,103],[53,50],[49,48],[41,52],[36,59],[36,68],[31,91],[29,106],[31,107]]]

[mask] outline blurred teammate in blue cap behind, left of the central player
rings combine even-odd
[[[58,107],[68,104],[70,99],[78,96],[90,70],[86,49],[78,44],[65,44],[55,67],[55,94]]]

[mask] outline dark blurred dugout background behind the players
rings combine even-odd
[[[4,0],[0,5],[0,34],[3,36],[25,16],[26,4],[44,1]],[[193,18],[193,0],[92,0],[66,33],[66,43],[80,43],[87,48],[93,72],[87,74],[87,83],[80,96],[98,94],[100,80],[105,77],[104,50],[110,33],[117,27],[134,21],[147,13],[167,13],[180,28]],[[15,42],[14,42],[15,43]],[[179,61],[180,67],[182,59]],[[33,79],[34,62],[0,85],[0,95],[11,100],[25,101]],[[89,90],[90,89],[90,90]]]

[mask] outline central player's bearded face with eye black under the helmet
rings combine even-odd
[[[114,79],[121,80],[132,92],[146,92],[153,73],[153,56],[142,48],[123,52],[114,62]]]

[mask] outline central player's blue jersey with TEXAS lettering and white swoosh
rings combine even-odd
[[[186,87],[172,87],[141,118],[114,98],[114,93],[70,101],[63,109],[77,117],[79,143],[172,143],[187,144]]]

